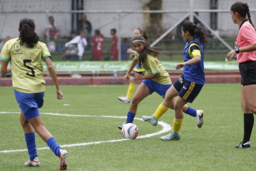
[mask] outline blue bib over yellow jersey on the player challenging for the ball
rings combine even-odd
[[[184,62],[191,60],[195,55],[201,56],[201,62],[192,65],[185,65],[183,68],[184,78],[188,81],[203,85],[205,83],[205,68],[203,65],[203,43],[198,38],[185,44]]]

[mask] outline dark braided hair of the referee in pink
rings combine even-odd
[[[248,21],[251,23],[251,25],[253,25],[253,21],[251,20],[251,14],[250,14],[249,6],[248,6],[247,3],[236,2],[233,5],[231,5],[230,10],[233,11],[233,12],[238,12],[238,14],[240,14],[240,16],[242,18],[246,18],[246,14],[247,14]],[[255,29],[254,25],[253,25],[253,28]]]

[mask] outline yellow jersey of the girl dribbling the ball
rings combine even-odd
[[[134,60],[138,60],[138,58],[139,54],[136,53]],[[161,77],[153,79],[153,81],[161,83],[162,85],[172,83],[172,81],[170,81],[170,75],[166,72],[166,69],[157,57],[148,54],[142,67],[145,69],[146,75],[156,75],[157,73],[161,73]]]

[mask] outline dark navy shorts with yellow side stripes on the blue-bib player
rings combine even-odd
[[[183,75],[173,83],[175,89],[179,92],[178,96],[185,101],[192,103],[196,96],[199,94],[203,85],[197,84],[192,81],[185,80]]]

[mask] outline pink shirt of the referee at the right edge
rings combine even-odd
[[[238,32],[238,38],[235,41],[239,47],[247,47],[250,44],[256,44],[256,31],[253,25],[248,21],[244,22]],[[238,53],[238,63],[246,61],[256,61],[256,51]]]

